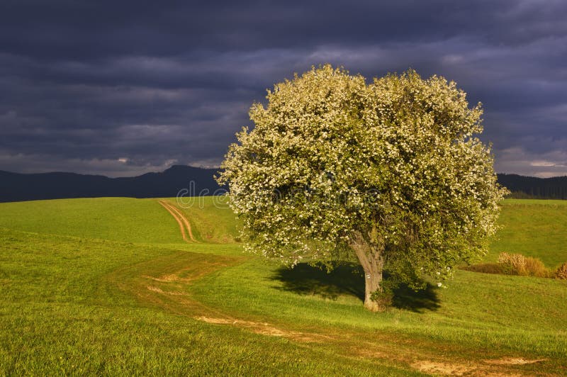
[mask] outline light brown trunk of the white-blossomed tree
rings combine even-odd
[[[376,291],[382,292],[382,271],[384,266],[384,244],[381,240],[372,239],[367,241],[360,232],[355,232],[352,237],[351,247],[364,269],[364,308],[373,312],[383,312],[386,304],[381,300],[372,300],[371,296]]]

